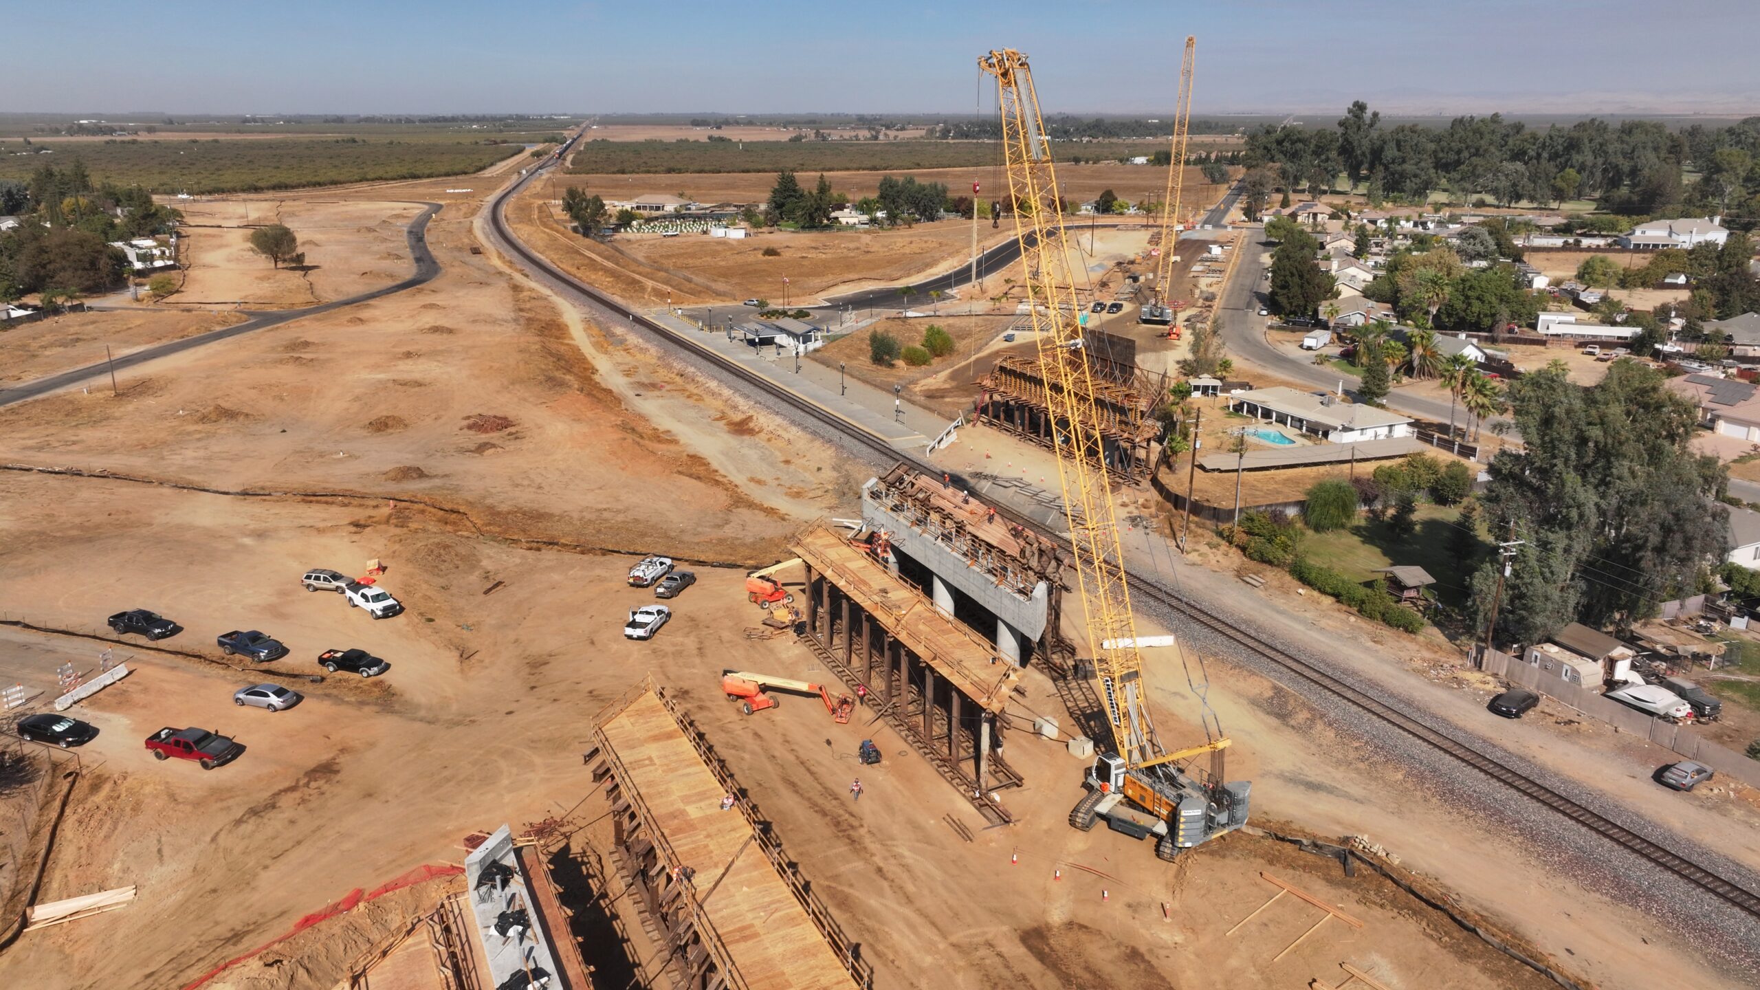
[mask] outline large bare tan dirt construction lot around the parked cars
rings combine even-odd
[[[128,909],[26,935],[0,957],[0,985],[176,986],[354,886],[456,858],[472,830],[568,814],[591,789],[579,757],[591,715],[646,673],[676,687],[889,986],[1336,983],[1341,960],[1392,986],[1540,985],[1362,874],[1343,881],[1283,847],[1232,837],[1170,867],[1112,831],[1072,831],[1077,765],[1061,743],[1010,731],[1008,759],[1028,786],[1003,800],[1021,824],[982,830],[884,726],[832,726],[813,705],[739,715],[716,691],[722,669],[822,673],[794,641],[748,639],[757,611],[743,569],[709,562],[776,560],[804,520],[850,514],[868,472],[470,254],[475,199],[444,196],[449,185],[359,192],[447,203],[429,227],[445,268],[435,282],[157,361],[125,375],[116,398],[72,391],[0,410],[5,462],[262,493],[0,472],[7,618],[90,631],[121,608],[153,608],[187,625],[164,646],[206,657],[120,646],[136,673],[77,708],[102,735],[81,750],[90,773],[42,897],[141,893]],[[653,601],[623,580],[642,551],[699,576],[651,643],[620,634],[627,610]],[[352,573],[370,558],[389,564],[384,587],[405,615],[373,622],[297,585],[308,567]],[[236,627],[264,629],[292,655],[222,664],[213,636]],[[392,669],[306,682],[320,673],[315,654],[336,646]],[[99,648],[0,629],[0,673],[53,685],[48,661],[19,657],[92,666]],[[1544,863],[1512,905],[1475,854],[1507,837],[1422,791],[1389,802],[1387,775],[1359,759],[1355,740],[1255,676],[1211,669],[1211,703],[1243,740],[1230,775],[1257,780],[1265,821],[1410,847],[1464,902],[1545,935],[1549,953],[1573,949],[1566,969],[1609,986],[1661,965],[1716,983],[1656,941],[1632,944],[1626,932],[1653,925]],[[1155,703],[1174,715],[1163,735],[1186,742],[1197,699],[1176,671],[1165,654],[1153,661]],[[308,699],[273,715],[229,701],[257,680]],[[1014,715],[1061,715],[1044,678],[1026,683]],[[248,750],[211,773],[155,763],[141,740],[167,724],[225,731]],[[887,761],[862,770],[857,814],[843,800],[861,733]],[[968,821],[973,839],[942,816]],[[1054,863],[1072,865],[1061,881]],[[1366,927],[1329,925],[1271,962],[1306,927],[1295,912],[1225,934],[1271,895],[1258,870]],[[1593,923],[1559,921],[1586,905]],[[331,990],[352,944],[301,953],[273,985]],[[229,979],[255,986],[243,981],[262,969]]]

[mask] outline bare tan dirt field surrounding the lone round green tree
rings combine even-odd
[[[410,273],[403,229],[421,211],[414,203],[334,199],[178,201],[178,292],[165,303],[238,308],[297,308],[329,303]],[[285,224],[299,238],[303,266],[276,268],[250,250],[250,233]]]

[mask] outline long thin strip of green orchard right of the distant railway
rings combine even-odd
[[[1165,151],[1165,141],[1089,141],[1056,150],[1060,162],[1118,160]],[[950,169],[993,166],[1001,159],[994,141],[609,141],[581,144],[570,173],[774,173]]]

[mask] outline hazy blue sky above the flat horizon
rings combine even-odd
[[[1756,0],[5,0],[0,111],[1760,113]],[[1728,42],[1720,51],[1720,41]],[[1646,67],[1642,76],[1630,67]],[[987,90],[986,90],[987,93]],[[986,95],[986,113],[994,97]]]

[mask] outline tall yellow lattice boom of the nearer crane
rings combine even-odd
[[[1082,610],[1088,615],[1088,650],[1096,659],[1100,692],[1112,722],[1119,756],[1130,766],[1162,763],[1160,742],[1149,722],[1137,624],[1125,583],[1125,553],[1107,484],[1100,414],[1093,372],[1082,347],[1081,301],[1070,270],[1058,176],[1038,113],[1038,93],[1026,56],[1014,49],[991,51],[979,67],[996,78],[1001,106],[1003,157],[1008,199],[1021,261],[1028,277],[1028,303],[1045,375],[1045,398],[1058,451],[1058,481],[1070,525]],[[1084,456],[1088,454],[1088,456]]]

